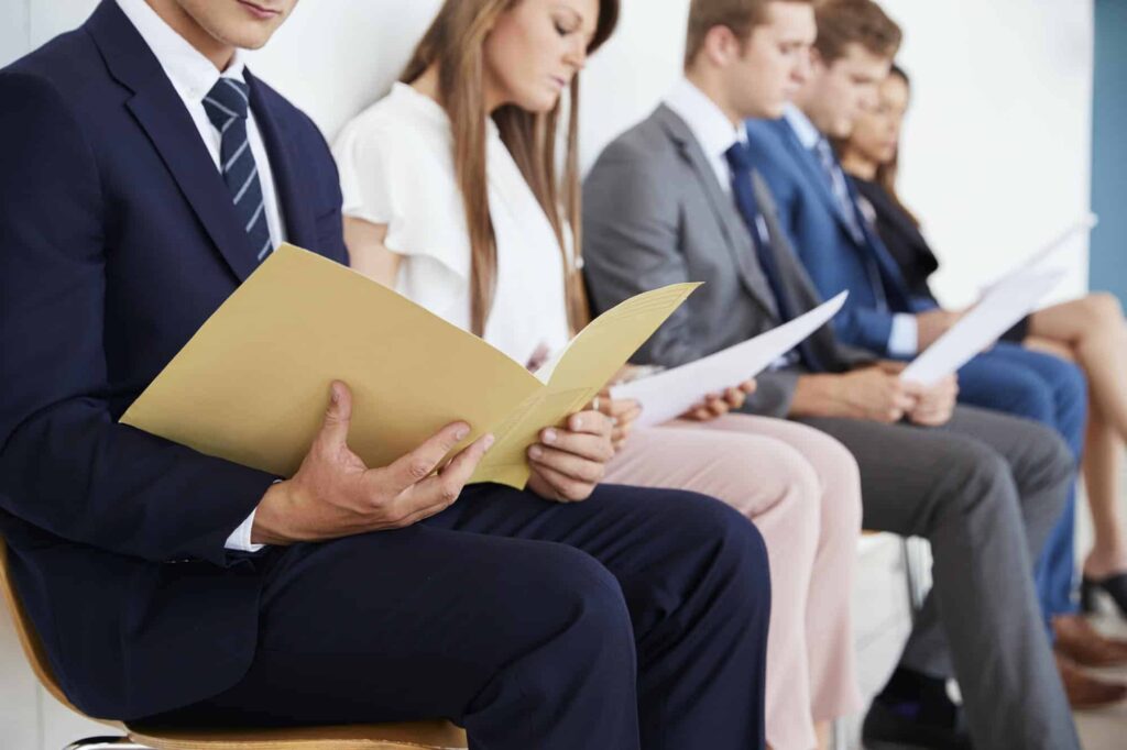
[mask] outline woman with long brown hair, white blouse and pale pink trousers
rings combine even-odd
[[[588,318],[578,73],[616,15],[615,0],[447,0],[401,82],[337,141],[354,267],[522,364],[566,346]],[[766,740],[808,750],[860,703],[849,606],[860,484],[827,436],[727,413],[752,387],[637,430],[637,404],[604,394],[597,408],[618,429],[602,479],[704,491],[754,520],[771,560]],[[592,479],[566,459],[533,446],[530,486],[569,497]]]

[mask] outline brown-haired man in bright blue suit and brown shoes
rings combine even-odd
[[[861,211],[829,141],[852,131],[860,107],[875,100],[900,43],[899,28],[871,0],[831,0],[818,9],[811,70],[795,104],[778,120],[749,120],[756,166],[774,193],[783,229],[818,291],[849,289],[835,319],[842,339],[894,359],[911,359],[958,313],[913,297],[894,259]],[[1079,461],[1086,417],[1081,370],[1056,357],[999,343],[959,372],[959,401],[1055,428]],[[1057,636],[1062,673],[1074,705],[1121,698],[1071,659],[1106,663],[1127,657],[1077,614],[1073,600],[1075,490],[1038,563],[1046,626]]]

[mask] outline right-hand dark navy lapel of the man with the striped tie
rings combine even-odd
[[[245,77],[247,86],[250,87],[250,108],[255,113],[255,122],[263,134],[263,143],[269,155],[274,187],[286,225],[286,240],[299,247],[316,250],[317,224],[311,208],[312,202],[308,198],[308,190],[316,182],[308,175],[308,162],[296,153],[292,135],[269,106],[270,97],[266,86],[251,75],[250,71],[247,71]]]

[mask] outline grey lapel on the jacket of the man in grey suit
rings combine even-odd
[[[758,262],[754,258],[754,249],[751,247],[751,236],[743,217],[736,209],[735,203],[728,196],[716,179],[716,171],[708,162],[704,152],[701,150],[696,137],[689,130],[689,126],[672,109],[662,105],[658,108],[658,116],[662,118],[663,127],[676,144],[682,158],[689,162],[696,177],[696,181],[707,195],[707,203],[712,209],[712,216],[720,226],[724,234],[725,244],[731,255],[733,262],[739,269],[739,277],[744,286],[755,298],[755,301],[767,310],[772,315],[778,316],[778,309],[774,303],[774,295],[767,284],[766,277],[760,270]]]

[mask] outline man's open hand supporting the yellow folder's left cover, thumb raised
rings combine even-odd
[[[348,448],[352,392],[334,382],[321,431],[293,479],[266,492],[251,542],[321,542],[416,524],[458,500],[494,441],[482,436],[435,473],[470,432],[465,422],[454,422],[390,466],[369,468]]]

